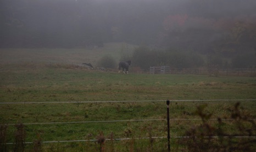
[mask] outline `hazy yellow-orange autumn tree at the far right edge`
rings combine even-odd
[[[222,54],[249,53],[256,48],[256,19],[255,17],[236,17],[235,19],[220,19],[216,21],[219,30],[225,32],[220,42]]]

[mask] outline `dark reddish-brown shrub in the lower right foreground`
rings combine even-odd
[[[254,138],[236,138],[255,136],[256,124],[252,116],[240,110],[240,103],[230,109],[233,123],[222,122],[218,118],[217,124],[209,122],[212,114],[204,112],[206,105],[197,107],[196,114],[202,119],[202,124],[193,126],[186,131],[188,138],[180,140],[188,151],[255,151]],[[214,138],[217,137],[217,138]]]

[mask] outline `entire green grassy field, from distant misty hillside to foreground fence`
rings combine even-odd
[[[197,107],[202,105],[207,105],[203,113],[212,114],[210,118],[214,120],[208,123],[213,126],[216,126],[218,117],[230,119],[235,111],[234,105],[237,101],[225,100],[241,100],[241,115],[252,119],[256,117],[256,102],[244,101],[256,99],[254,77],[134,73],[126,75],[116,71],[103,72],[74,66],[73,61],[83,61],[79,60],[81,54],[72,52],[68,53],[70,60],[65,56],[63,62],[57,60],[62,54],[61,51],[46,51],[42,54],[42,60],[35,58],[36,60],[26,61],[30,59],[27,57],[31,55],[30,51],[23,50],[19,55],[16,54],[16,57],[20,57],[19,62],[11,59],[13,51],[1,52],[5,57],[9,56],[8,59],[1,56],[3,62],[0,70],[0,124],[9,124],[5,131],[6,136],[2,136],[6,138],[6,143],[15,143],[14,124],[23,123],[25,142],[34,142],[35,139],[99,141],[104,136],[108,139],[131,138],[105,141],[102,145],[105,151],[166,151],[166,138],[152,138],[167,136],[166,100],[202,100],[171,102],[170,130],[171,136],[174,137],[186,136],[187,130],[202,124],[202,117],[196,112]],[[47,56],[51,61],[45,60],[48,59]],[[95,62],[97,60],[96,55],[88,59]],[[79,101],[88,103],[60,103]],[[3,104],[5,102],[13,104]],[[237,132],[232,120],[225,121],[225,124],[227,132]],[[3,128],[1,132],[4,132]],[[255,136],[255,130],[252,130],[252,135]],[[143,137],[149,139],[142,139]],[[43,143],[41,150],[99,151],[101,144],[97,141]],[[171,150],[186,151],[187,149],[178,142],[177,138],[171,139]],[[7,145],[9,150],[13,147],[13,144]],[[26,144],[25,151],[33,149],[35,150],[35,144]]]

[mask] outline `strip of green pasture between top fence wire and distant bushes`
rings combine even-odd
[[[18,67],[16,67],[18,66]],[[65,65],[1,67],[1,102],[254,99],[254,77],[101,72]]]

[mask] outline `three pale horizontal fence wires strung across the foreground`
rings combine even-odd
[[[229,102],[246,102],[246,101],[256,101],[256,99],[241,99],[241,100],[169,100],[170,102],[220,102],[220,101],[229,101]],[[65,102],[1,102],[0,104],[42,104],[42,103],[125,103],[125,102],[165,102],[163,100],[151,100],[151,101],[65,101]],[[208,119],[208,120],[217,120]],[[199,121],[202,119],[169,119],[170,121]],[[222,119],[224,121],[232,121],[235,119]],[[255,121],[256,119],[248,119]],[[87,123],[108,123],[108,122],[132,122],[132,121],[166,121],[166,119],[134,119],[134,120],[103,120],[103,121],[71,121],[71,122],[36,122],[36,123],[24,123],[24,125],[54,125],[54,124],[87,124]],[[7,125],[16,125],[16,124],[7,124]],[[116,138],[116,139],[105,139],[106,141],[122,141],[122,140],[131,140],[131,139],[158,139],[158,138],[168,138],[168,137],[140,137],[140,138]],[[191,138],[188,136],[170,136],[170,138]],[[219,138],[218,136],[205,136],[204,138]],[[224,136],[224,138],[231,138],[230,136]],[[256,138],[256,136],[232,136],[232,138]],[[88,140],[70,140],[70,141],[42,141],[42,143],[68,143],[68,142],[96,142],[97,139],[88,139]],[[25,144],[32,144],[34,142],[25,142]],[[6,143],[14,144],[14,143]]]

